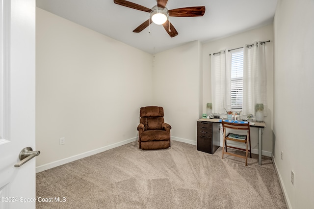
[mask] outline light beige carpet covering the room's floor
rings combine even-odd
[[[171,141],[143,151],[135,141],[37,173],[36,196],[51,202],[36,208],[286,209],[270,157],[262,166],[252,157],[245,166],[242,158],[221,159],[221,148],[210,155]]]

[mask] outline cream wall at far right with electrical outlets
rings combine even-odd
[[[274,39],[274,162],[288,207],[313,209],[314,1],[278,0]]]

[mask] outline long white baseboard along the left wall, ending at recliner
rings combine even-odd
[[[56,166],[63,165],[63,164],[66,164],[66,163],[69,163],[69,162],[72,162],[72,161],[75,161],[75,160],[78,160],[78,159],[81,159],[81,158],[84,158],[84,157],[89,157],[89,156],[92,156],[92,155],[104,152],[106,150],[110,150],[110,149],[115,148],[115,147],[119,147],[119,146],[122,146],[122,145],[125,145],[125,144],[128,144],[128,143],[131,143],[133,141],[136,141],[137,139],[138,139],[138,137],[134,137],[134,138],[127,139],[127,140],[124,140],[124,141],[121,141],[121,142],[117,142],[117,143],[114,143],[114,144],[111,144],[111,145],[107,145],[105,147],[101,147],[101,148],[98,148],[98,149],[95,149],[95,150],[91,150],[91,151],[88,151],[88,152],[85,152],[85,153],[81,153],[81,154],[78,154],[78,155],[75,155],[75,156],[72,156],[72,157],[67,157],[67,158],[64,158],[64,159],[60,159],[60,160],[57,160],[57,161],[54,161],[54,162],[50,162],[50,163],[47,163],[47,164],[44,164],[44,165],[37,166],[36,167],[36,173],[39,173],[39,172],[48,170],[50,168],[54,168]]]

